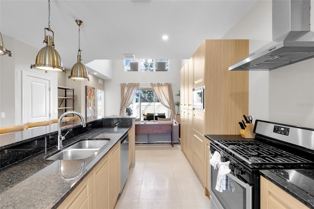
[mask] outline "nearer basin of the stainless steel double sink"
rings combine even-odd
[[[91,157],[94,155],[94,153],[97,152],[95,149],[65,149],[62,150],[51,157],[44,157],[45,159],[50,160],[57,160],[57,159],[68,159],[68,160],[74,160],[74,159],[84,159],[87,157]]]

